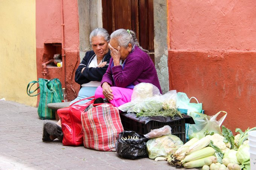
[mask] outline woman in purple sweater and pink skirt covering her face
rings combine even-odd
[[[162,93],[154,63],[148,51],[140,47],[135,32],[119,29],[110,35],[110,64],[95,98],[107,98],[116,107],[131,101],[133,88],[151,83]]]

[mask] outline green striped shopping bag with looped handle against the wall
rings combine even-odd
[[[31,87],[34,84],[39,83],[39,86],[31,91]],[[32,84],[30,86],[30,84]],[[31,95],[37,89],[40,89],[40,93],[36,95]],[[55,110],[47,107],[48,103],[61,102],[62,100],[62,91],[61,91],[61,82],[58,78],[53,78],[50,80],[39,78],[38,81],[31,81],[27,84],[27,95],[37,96],[40,94],[40,101],[38,105],[38,116],[40,119],[55,119]]]

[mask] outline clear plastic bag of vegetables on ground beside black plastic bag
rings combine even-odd
[[[164,135],[158,138],[152,138],[147,141],[146,148],[150,159],[156,157],[166,157],[175,153],[183,142],[175,135]]]

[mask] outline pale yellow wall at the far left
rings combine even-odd
[[[37,80],[35,0],[0,0],[0,99],[35,106],[26,94]]]

